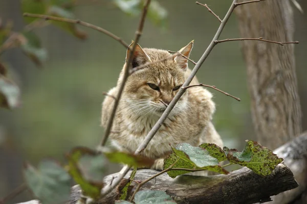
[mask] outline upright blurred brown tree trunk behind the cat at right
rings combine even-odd
[[[238,6],[241,37],[293,41],[291,7],[289,0]],[[275,149],[301,133],[294,45],[258,41],[243,41],[242,45],[257,141]]]

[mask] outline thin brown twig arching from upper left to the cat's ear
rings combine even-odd
[[[91,29],[99,31],[99,32],[115,39],[116,41],[121,43],[126,48],[128,48],[128,46],[129,46],[123,39],[114,35],[113,33],[109,32],[109,31],[107,31],[107,30],[105,30],[101,27],[98,27],[97,25],[93,25],[91,23],[84,22],[84,21],[81,21],[81,20],[78,20],[78,19],[60,18],[60,17],[55,17],[55,16],[41,15],[41,14],[34,14],[34,13],[24,13],[24,16],[33,17],[33,18],[43,18],[45,20],[55,20],[55,21],[62,21],[62,22],[70,22],[70,23],[80,24],[80,25],[83,25],[85,27],[89,27]]]

